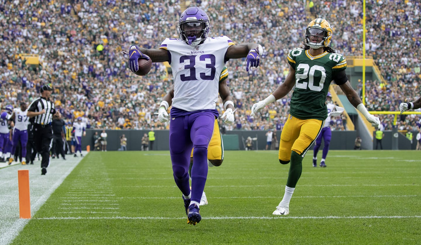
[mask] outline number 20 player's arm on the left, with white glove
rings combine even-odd
[[[251,107],[251,114],[250,116],[254,116],[254,113],[260,111],[262,108],[264,108],[266,105],[269,105],[270,103],[279,100],[280,98],[287,95],[291,89],[295,85],[295,69],[290,66],[290,72],[287,75],[287,78],[285,79],[285,82],[279,85],[275,91],[269,95],[266,99],[261,100],[257,103],[255,103]]]

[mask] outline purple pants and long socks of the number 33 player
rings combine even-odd
[[[173,175],[180,191],[188,196],[190,154],[193,152],[192,201],[200,202],[208,176],[208,145],[213,134],[215,115],[196,112],[170,120],[170,155]]]

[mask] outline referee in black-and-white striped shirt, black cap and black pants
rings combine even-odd
[[[47,173],[47,167],[50,163],[49,150],[53,138],[51,121],[53,114],[56,113],[56,107],[50,100],[52,90],[50,86],[43,85],[40,89],[41,97],[31,102],[27,114],[33,124],[35,148],[43,158],[41,160],[41,175]]]

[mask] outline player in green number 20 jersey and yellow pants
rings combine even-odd
[[[288,54],[290,72],[285,82],[251,108],[251,116],[254,116],[269,103],[287,95],[295,86],[290,114],[281,133],[278,156],[281,164],[290,162],[290,169],[284,197],[274,215],[289,214],[289,202],[302,172],[303,157],[328,116],[325,100],[333,80],[373,127],[380,124],[380,119],[368,113],[357,92],[352,89],[345,73],[346,60],[329,47],[331,39],[330,24],[321,18],[312,20],[306,28],[304,48],[295,48]]]

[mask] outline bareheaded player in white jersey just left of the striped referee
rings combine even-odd
[[[16,146],[21,142],[21,154],[22,154],[22,165],[26,165],[26,145],[28,143],[28,124],[29,117],[27,116],[28,107],[26,102],[21,102],[21,108],[14,108],[11,121],[14,121],[15,127],[13,127],[13,138],[12,140],[12,155],[15,154]],[[9,158],[9,164],[13,162],[13,157]]]

